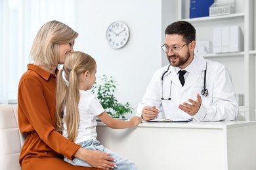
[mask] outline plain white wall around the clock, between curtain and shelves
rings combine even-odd
[[[174,18],[172,2],[76,0],[74,29],[79,37],[75,50],[96,59],[96,76],[114,76],[119,84],[117,99],[129,102],[135,110],[152,74],[161,67],[164,29]],[[162,17],[167,19],[162,22]],[[130,29],[129,42],[118,50],[110,48],[105,39],[108,25],[115,21],[125,22]]]

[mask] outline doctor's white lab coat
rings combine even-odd
[[[206,88],[209,92],[207,97],[201,94],[206,63]],[[230,73],[224,65],[204,59],[202,56],[194,56],[192,63],[185,68],[187,73],[183,87],[177,74],[179,69],[172,66],[163,76],[163,86],[161,85],[161,76],[167,71],[168,66],[154,73],[142,102],[137,108],[137,116],[142,114],[144,106],[156,106],[165,114],[165,118],[170,119],[194,118],[198,121],[219,121],[238,118],[236,94]],[[164,98],[169,97],[171,89],[171,100],[161,100],[162,89]],[[197,93],[202,97],[202,104],[194,116],[178,108],[183,102],[189,103],[188,99],[196,100]]]

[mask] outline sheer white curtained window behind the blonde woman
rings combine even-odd
[[[74,27],[74,0],[0,0],[0,104],[17,103],[39,28],[50,20]]]

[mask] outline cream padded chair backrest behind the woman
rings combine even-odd
[[[20,170],[18,158],[26,136],[18,128],[18,105],[0,105],[0,169]]]

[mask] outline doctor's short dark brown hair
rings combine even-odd
[[[165,29],[165,35],[178,34],[183,35],[183,41],[186,44],[196,41],[196,29],[192,24],[186,21],[177,21],[168,25]]]

